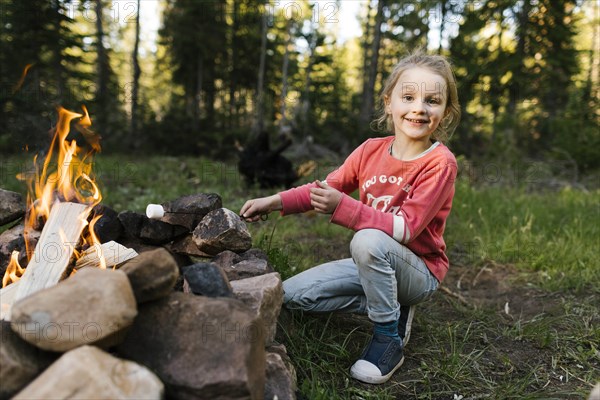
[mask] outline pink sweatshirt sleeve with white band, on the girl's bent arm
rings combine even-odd
[[[425,171],[396,214],[376,210],[350,196],[344,196],[331,222],[354,231],[379,229],[400,243],[408,243],[431,223],[453,194],[455,178],[456,164],[435,166]]]

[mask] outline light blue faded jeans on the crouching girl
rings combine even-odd
[[[382,231],[356,232],[352,258],[310,268],[283,282],[288,309],[366,313],[373,322],[400,317],[400,305],[429,298],[438,287],[425,262]]]

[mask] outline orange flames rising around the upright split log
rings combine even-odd
[[[27,70],[24,75],[26,73]],[[33,176],[24,177],[22,174],[17,176],[21,180],[27,180],[29,186],[27,195],[29,216],[25,221],[24,229],[25,243],[28,247],[29,233],[34,228],[39,228],[40,224],[48,219],[50,209],[56,200],[88,204],[90,208],[102,200],[92,173],[92,156],[95,152],[100,151],[100,136],[89,129],[92,121],[87,109],[85,107],[82,109],[83,114],[79,114],[58,107],[58,122],[41,168],[36,155],[33,159],[35,167]],[[85,154],[82,154],[83,148],[79,147],[75,140],[67,140],[72,122],[91,147],[91,150]],[[100,240],[94,234],[93,224],[100,217],[101,215],[97,215],[87,229],[88,237],[83,238],[84,245],[99,248]],[[78,253],[75,254],[77,257]],[[32,255],[32,249],[27,248],[28,259]],[[103,258],[102,261],[104,261]],[[18,276],[15,278],[18,280]],[[3,283],[5,280],[15,282],[12,276],[6,278],[6,274]]]

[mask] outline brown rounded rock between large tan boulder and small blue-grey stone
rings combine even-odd
[[[138,304],[167,296],[179,277],[177,262],[163,248],[140,253],[119,270],[127,274]]]

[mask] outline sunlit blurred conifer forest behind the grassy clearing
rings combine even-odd
[[[109,153],[235,160],[264,131],[345,156],[387,134],[382,82],[422,48],[455,68],[457,155],[600,166],[598,2],[352,2],[340,38],[339,0],[0,0],[0,153],[42,149],[56,106],[85,105]]]

